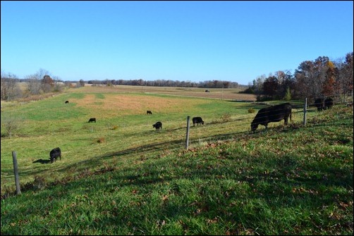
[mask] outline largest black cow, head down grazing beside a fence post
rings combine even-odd
[[[252,132],[255,132],[255,130],[258,128],[258,125],[264,125],[267,129],[268,123],[279,122],[281,120],[284,120],[284,124],[288,125],[289,116],[291,121],[291,104],[288,102],[285,104],[262,108],[260,111],[258,111],[257,115],[252,120],[251,130]]]

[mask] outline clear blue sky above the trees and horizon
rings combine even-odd
[[[248,85],[353,51],[353,1],[1,1],[1,71]]]

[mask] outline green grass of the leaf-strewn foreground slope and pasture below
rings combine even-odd
[[[183,114],[115,120],[95,110],[108,120],[96,124],[81,121],[86,111],[75,104],[67,122],[28,118],[32,106],[44,112],[74,95],[61,96],[1,111],[25,120],[25,131],[1,137],[1,194],[13,187],[12,150],[23,190],[1,200],[1,235],[353,235],[350,108],[310,112],[306,126],[295,113],[288,127],[255,134],[250,104],[211,99],[183,99],[195,103]],[[187,151],[185,116],[194,113],[208,122],[191,128]],[[157,119],[161,132],[152,129]],[[32,163],[54,146],[61,161]]]

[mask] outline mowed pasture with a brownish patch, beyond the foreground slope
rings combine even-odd
[[[202,98],[202,94],[222,92],[203,91],[86,86],[40,101],[1,102],[1,192],[14,187],[12,151],[18,157],[21,184],[32,182],[36,176],[60,180],[92,171],[92,166],[101,168],[105,163],[128,160],[148,151],[184,149],[188,116],[190,123],[194,116],[205,121],[205,125],[190,124],[190,147],[210,140],[232,139],[249,132],[255,113],[248,113],[248,108],[257,111],[264,107],[236,102],[233,99],[254,97],[238,94],[235,89],[224,91],[225,97],[233,97],[231,100]],[[66,100],[69,104],[65,104]],[[147,110],[152,115],[147,115]],[[97,123],[87,123],[90,118],[96,118]],[[299,122],[301,119],[293,118]],[[11,138],[6,135],[8,120],[18,125]],[[160,132],[152,128],[157,121],[163,124]],[[55,147],[61,148],[62,160],[43,164]]]

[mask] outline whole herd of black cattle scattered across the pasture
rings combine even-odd
[[[65,101],[66,104],[69,103],[69,101]],[[326,98],[326,99],[315,99],[315,104],[313,106],[317,107],[317,111],[322,111],[326,110],[328,108],[331,108],[333,106],[333,99]],[[268,128],[268,124],[272,122],[279,122],[281,120],[284,120],[284,124],[288,125],[288,118],[290,118],[291,121],[291,104],[290,103],[284,103],[284,104],[279,104],[279,105],[274,105],[274,106],[269,106],[266,108],[260,109],[258,111],[257,115],[255,118],[252,120],[251,123],[251,131],[255,132],[257,130],[258,125],[264,125],[264,127]],[[146,111],[147,115],[151,114],[152,111]],[[199,125],[202,124],[204,125],[204,121],[200,116],[193,117],[193,126],[195,124]],[[94,122],[96,123],[96,118],[90,118],[88,121],[89,123]],[[155,128],[155,130],[162,130],[162,123],[161,121],[158,121],[157,123],[154,123],[152,125],[152,128]],[[59,147],[56,147],[55,149],[50,151],[50,162],[53,163],[56,161],[56,159],[60,158],[61,159],[61,149]]]

